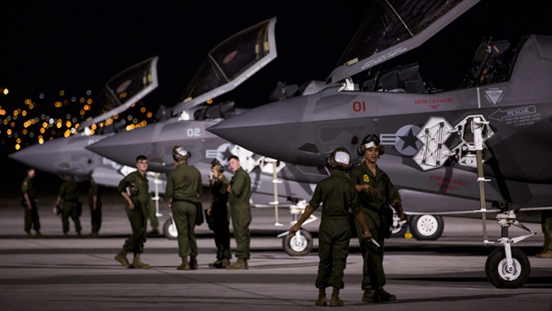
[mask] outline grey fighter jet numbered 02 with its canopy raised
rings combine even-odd
[[[188,163],[203,174],[205,186],[209,186],[211,162],[216,159],[227,165],[227,158],[233,154],[240,158],[242,167],[251,175],[254,206],[291,205],[310,198],[315,184],[321,178],[319,174],[305,174],[293,165],[275,163],[272,159],[253,154],[205,131],[205,128],[244,111],[235,108],[231,101],[216,105],[210,102],[216,96],[232,90],[276,57],[275,22],[276,19],[273,18],[254,25],[211,50],[204,64],[200,65],[198,73],[185,88],[181,101],[174,107],[172,118],[132,131],[116,133],[86,148],[125,165],[132,165],[136,154],[144,154],[148,158],[148,170],[168,173],[174,169],[172,149],[174,146],[181,146],[192,154]],[[242,75],[237,76],[237,73]],[[293,93],[310,94],[318,90],[317,86],[320,86],[320,81],[312,81],[296,87]],[[291,92],[293,88],[284,89]],[[284,93],[280,93],[278,99],[285,96]],[[282,179],[279,186],[274,183],[274,172]],[[277,211],[278,206],[274,207]],[[275,224],[280,225],[278,214],[275,215]],[[294,246],[291,253],[310,251],[305,247],[311,245],[312,238],[307,233],[305,236],[298,238],[302,242],[299,247]]]

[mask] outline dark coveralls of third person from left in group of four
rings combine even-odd
[[[224,175],[211,186],[211,195],[213,196],[213,205],[211,207],[211,217],[213,217],[213,232],[215,234],[216,259],[230,260],[232,253],[230,250],[230,221],[228,219],[228,179]]]

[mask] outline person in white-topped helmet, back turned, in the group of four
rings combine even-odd
[[[178,255],[182,258],[182,264],[177,269],[197,270],[198,245],[194,229],[198,198],[203,192],[201,175],[197,168],[188,165],[191,154],[184,148],[174,147],[172,155],[176,168],[168,174],[165,195],[178,232]]]

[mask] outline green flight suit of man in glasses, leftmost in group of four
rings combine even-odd
[[[134,209],[129,209],[129,203],[125,200],[126,216],[130,221],[130,227],[132,234],[125,241],[123,250],[133,253],[143,253],[144,243],[146,242],[146,225],[148,204],[150,204],[150,192],[148,187],[148,180],[146,175],[142,176],[139,171],[134,171],[123,178],[119,182],[117,191],[119,193],[126,192],[126,187],[130,185],[136,186],[136,195],[131,196],[132,203],[134,203]]]

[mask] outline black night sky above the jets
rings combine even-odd
[[[60,90],[69,96],[91,90],[94,97],[110,77],[156,55],[160,86],[145,101],[173,106],[216,44],[277,17],[278,58],[219,99],[255,107],[268,102],[278,81],[326,79],[370,6],[371,1],[8,1],[0,11],[0,89],[9,94],[0,95],[0,106],[11,113],[25,99],[54,102]],[[424,80],[454,87],[481,37],[516,44],[524,34],[552,35],[551,16],[550,1],[484,0],[397,61],[418,62]],[[4,130],[2,138],[9,141]],[[0,145],[0,195],[17,190],[25,175],[23,165],[6,158],[14,151],[13,143]]]

